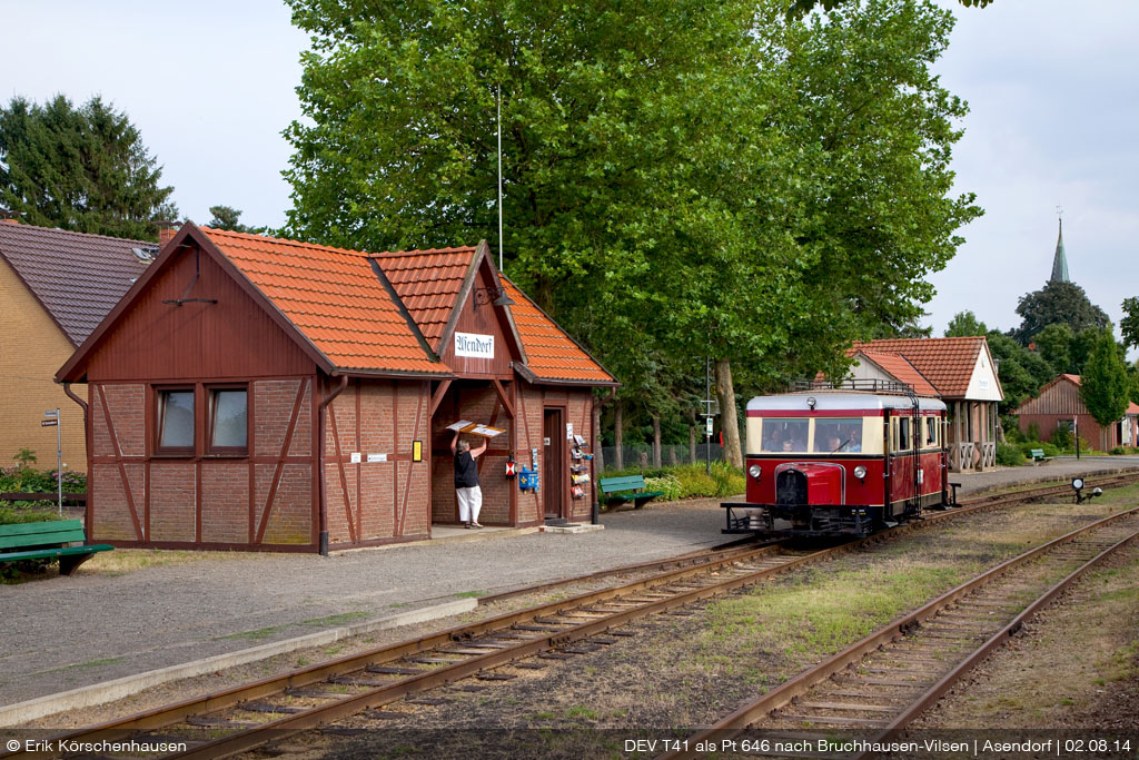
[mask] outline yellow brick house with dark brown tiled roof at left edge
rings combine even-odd
[[[87,466],[83,417],[52,379],[157,253],[154,243],[0,220],[0,467],[22,448],[56,466],[63,416],[64,461]]]

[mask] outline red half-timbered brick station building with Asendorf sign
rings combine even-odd
[[[56,379],[88,386],[92,540],[301,551],[458,524],[458,419],[506,430],[481,522],[587,518],[591,389],[616,385],[485,243],[370,254],[192,223]]]

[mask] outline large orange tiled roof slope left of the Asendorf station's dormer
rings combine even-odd
[[[367,253],[205,227],[202,231],[337,368],[450,374],[425,350]]]

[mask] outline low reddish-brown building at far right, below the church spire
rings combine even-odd
[[[1109,451],[1117,446],[1136,446],[1139,440],[1139,404],[1130,404],[1123,419],[1104,426],[1088,412],[1088,407],[1080,395],[1079,375],[1059,375],[1044,387],[1035,399],[1022,403],[1016,416],[1021,431],[1036,426],[1040,438],[1050,441],[1059,428],[1074,431],[1079,427],[1080,438],[1101,451]]]

